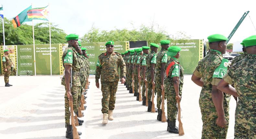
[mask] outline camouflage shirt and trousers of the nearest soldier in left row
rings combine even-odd
[[[76,49],[72,46],[68,46],[67,49],[63,52],[62,55],[62,63],[65,68],[65,65],[71,65],[72,68],[72,88],[71,88],[71,94],[73,97],[73,110],[76,112],[78,110],[78,95],[80,94],[80,89],[81,89],[81,82],[80,82],[80,77],[77,75],[77,73],[80,73],[80,68],[81,68],[81,61],[78,58]],[[65,75],[63,76],[61,80],[61,84],[65,86]],[[65,86],[65,124],[66,126],[70,125],[69,119],[70,119],[70,111],[69,111],[69,101],[67,97],[67,89]]]

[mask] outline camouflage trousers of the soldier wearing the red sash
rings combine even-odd
[[[179,85],[179,95],[182,97],[182,86]],[[170,121],[175,121],[177,119],[177,101],[176,101],[176,93],[174,90],[174,86],[165,86],[165,94],[167,100],[167,117]]]

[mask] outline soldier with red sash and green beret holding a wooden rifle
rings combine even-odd
[[[176,126],[177,119],[177,99],[181,100],[184,69],[177,61],[180,58],[180,47],[171,46],[168,48],[167,55],[170,57],[165,65],[166,80],[164,88],[167,98],[167,131],[169,133],[179,134],[179,128]]]

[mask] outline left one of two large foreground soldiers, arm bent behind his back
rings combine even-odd
[[[218,96],[219,90],[216,87],[227,72],[228,60],[224,59],[222,54],[226,52],[226,40],[228,39],[219,34],[207,38],[211,50],[198,62],[191,79],[202,87],[199,98],[203,121],[202,138],[223,139],[227,137],[230,95],[221,92],[219,93],[221,96]],[[220,103],[216,100],[220,100]],[[224,110],[221,110],[222,105]],[[217,125],[216,121],[220,124]]]

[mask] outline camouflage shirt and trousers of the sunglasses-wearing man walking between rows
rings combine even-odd
[[[102,91],[102,113],[109,113],[109,110],[114,110],[116,101],[116,91],[120,76],[118,68],[121,69],[121,77],[125,77],[125,63],[120,53],[113,52],[109,55],[107,52],[99,55],[95,81],[101,82]],[[100,77],[101,76],[101,77]]]

